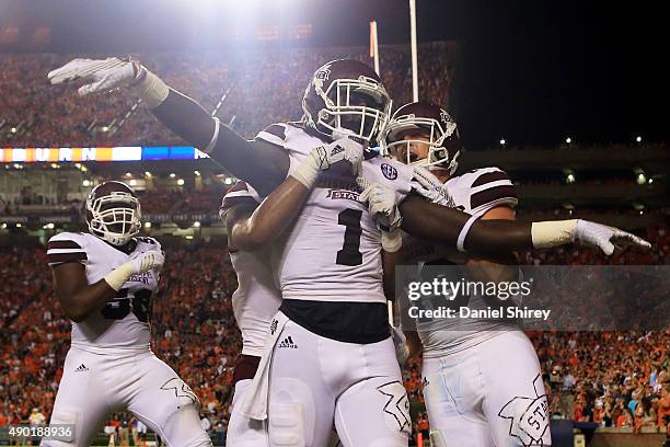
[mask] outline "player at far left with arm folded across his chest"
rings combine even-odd
[[[151,352],[151,300],[164,256],[157,240],[137,237],[140,219],[135,192],[105,182],[86,199],[89,232],[48,241],[54,291],[72,320],[50,424],[72,424],[73,432],[43,446],[89,446],[120,410],[169,446],[211,446],[196,394]]]

